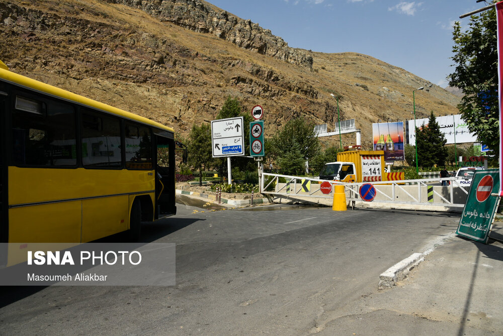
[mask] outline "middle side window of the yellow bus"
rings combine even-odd
[[[121,123],[101,113],[82,113],[82,164],[86,168],[121,168]]]

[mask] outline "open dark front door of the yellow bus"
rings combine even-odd
[[[175,205],[175,141],[159,135],[155,168],[155,218],[177,213]]]

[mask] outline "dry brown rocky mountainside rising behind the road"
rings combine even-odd
[[[358,53],[295,49],[202,0],[0,0],[0,59],[12,71],[170,125],[187,136],[228,96],[265,111],[266,137],[294,117],[333,129],[458,113],[459,97]],[[328,138],[322,138],[329,142]],[[337,139],[338,141],[338,139]],[[343,136],[346,145],[353,134]]]

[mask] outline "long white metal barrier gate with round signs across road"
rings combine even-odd
[[[278,203],[304,201],[331,206],[333,185],[343,184],[347,203],[353,207],[462,212],[470,188],[461,185],[456,177],[360,183],[328,181],[332,188],[324,194],[319,187],[324,181],[317,177],[262,173],[260,192],[273,195],[273,201]],[[450,181],[450,185],[442,186],[440,181]],[[372,201],[363,200],[359,194],[360,187],[368,183],[376,189]]]

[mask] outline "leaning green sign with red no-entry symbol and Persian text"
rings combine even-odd
[[[466,199],[463,214],[456,233],[475,241],[487,243],[499,197],[492,193],[499,191],[497,169],[477,170]]]

